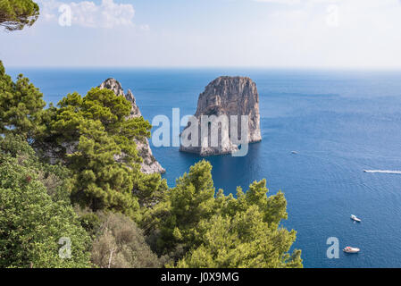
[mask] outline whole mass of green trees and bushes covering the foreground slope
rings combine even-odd
[[[302,267],[264,180],[225,196],[203,160],[169,189],[140,172],[133,139],[151,126],[124,97],[92,88],[44,107],[0,62],[0,267]]]

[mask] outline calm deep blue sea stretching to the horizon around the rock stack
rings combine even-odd
[[[113,77],[130,88],[144,117],[194,114],[199,93],[221,75],[248,76],[260,95],[263,140],[245,157],[207,157],[216,189],[226,194],[266,178],[271,194],[288,200],[283,225],[297,231],[305,267],[401,267],[400,71],[263,69],[8,69],[24,73],[57,103],[73,91]],[[178,147],[153,147],[170,186],[201,157]],[[292,154],[297,151],[297,154]],[[362,223],[354,223],[356,214]],[[326,242],[356,255],[326,256]]]

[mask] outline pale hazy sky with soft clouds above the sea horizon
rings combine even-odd
[[[401,0],[37,0],[5,66],[401,69]]]

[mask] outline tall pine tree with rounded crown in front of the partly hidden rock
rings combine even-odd
[[[138,212],[138,198],[131,192],[145,176],[133,139],[149,136],[151,126],[143,117],[127,118],[129,111],[124,97],[99,88],[86,97],[68,95],[59,108],[47,110],[46,132],[35,146],[71,170],[73,203],[93,211]]]

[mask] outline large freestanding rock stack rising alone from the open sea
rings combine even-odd
[[[202,135],[201,125],[203,115],[226,115],[229,119],[228,125],[212,119],[209,123],[207,138]],[[220,154],[228,154],[238,150],[238,141],[231,138],[231,115],[238,118],[238,124],[234,124],[233,128],[237,128],[238,139],[245,140],[241,137],[241,115],[246,115],[248,119],[246,136],[248,143],[257,142],[262,139],[260,130],[260,114],[259,114],[259,94],[256,89],[255,82],[246,77],[219,77],[207,85],[205,91],[199,95],[197,101],[197,109],[195,117],[197,119],[198,142],[196,146],[185,147],[182,145],[180,151],[196,153],[200,156],[212,156]],[[211,117],[209,117],[211,118]],[[213,124],[218,126],[219,136],[218,144],[212,144],[211,133]],[[185,136],[186,130],[190,128],[188,123],[186,129],[181,133]],[[237,126],[237,127],[236,127]],[[223,131],[223,132],[222,132]],[[224,132],[225,131],[225,132]],[[189,138],[192,136],[189,135]],[[182,139],[182,138],[181,138]],[[207,143],[206,143],[207,142]]]

